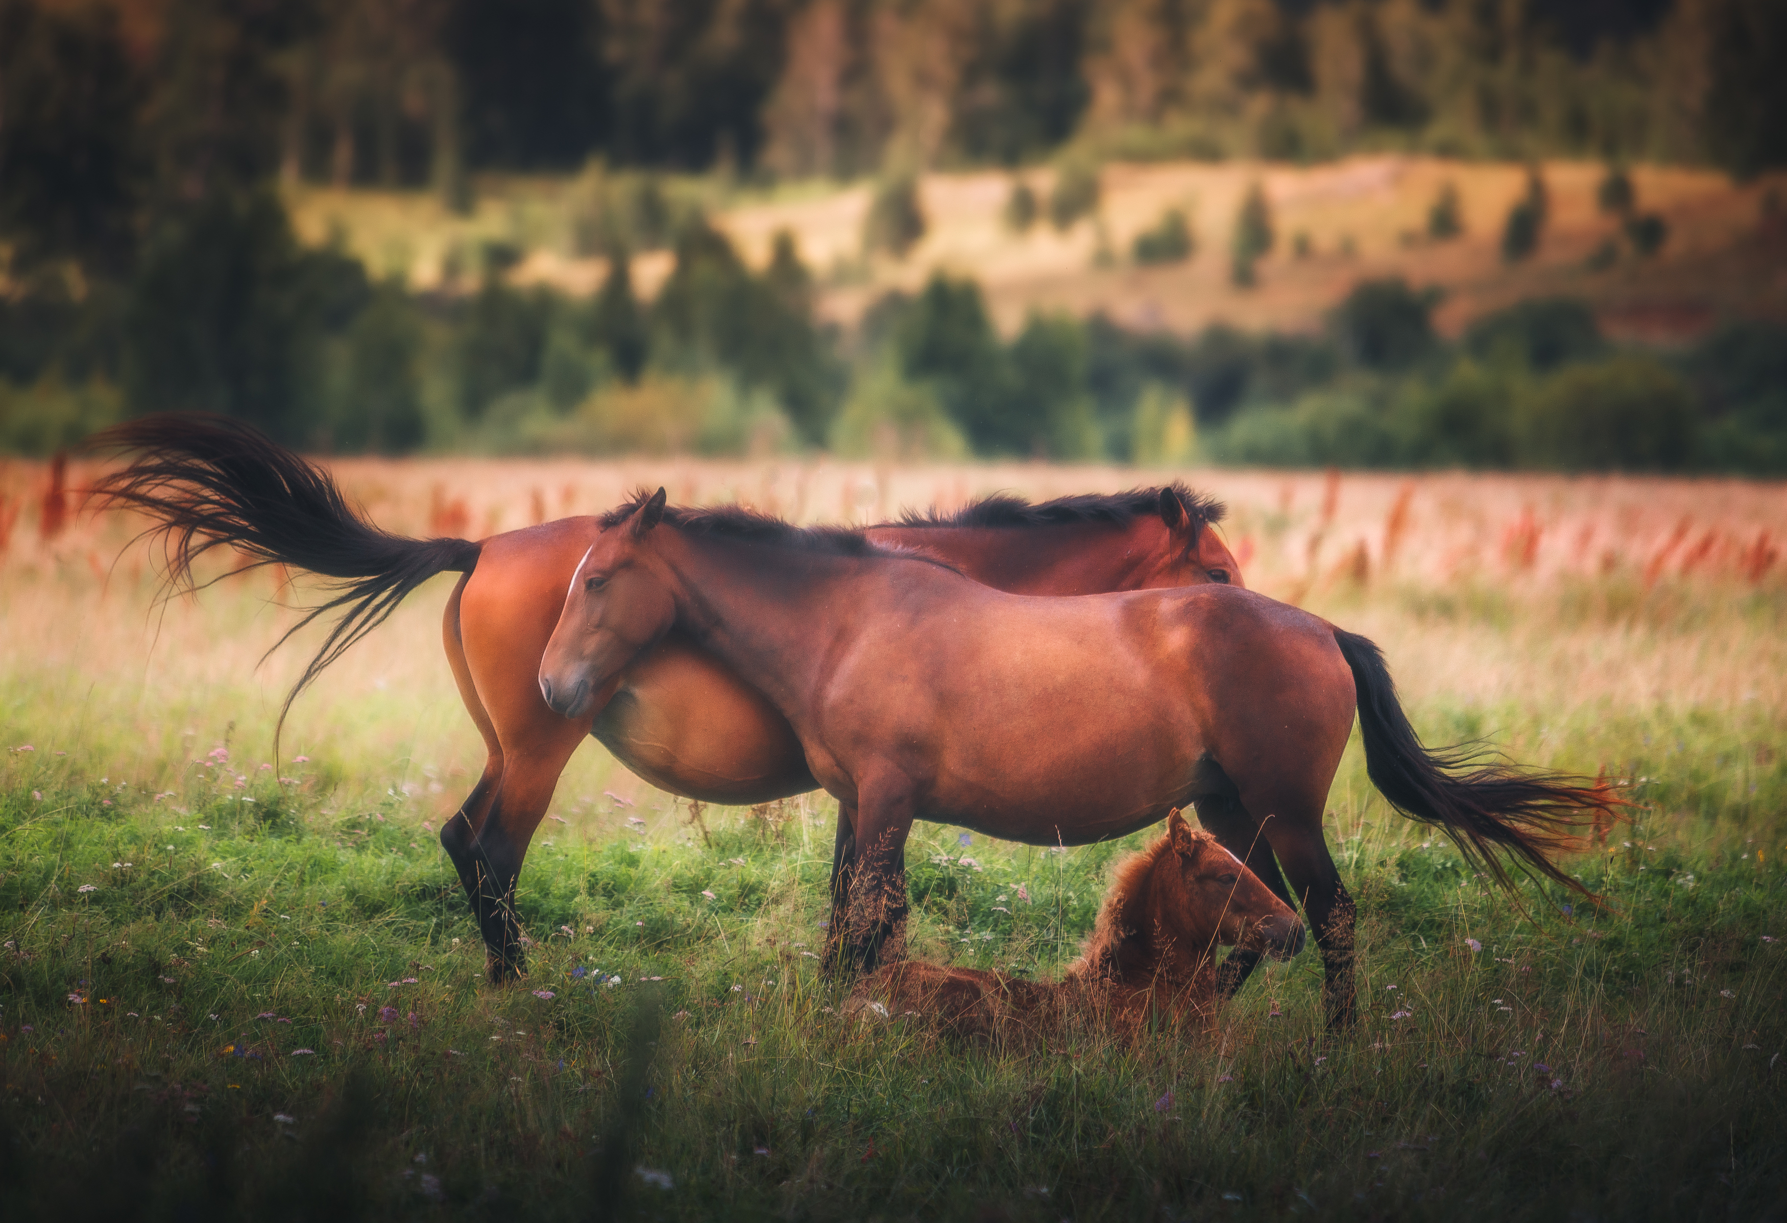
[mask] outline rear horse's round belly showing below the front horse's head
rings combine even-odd
[[[711,657],[667,639],[633,664],[591,734],[652,786],[745,805],[815,787],[793,727]]]

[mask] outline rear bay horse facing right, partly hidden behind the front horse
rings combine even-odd
[[[441,844],[479,914],[497,980],[520,971],[508,905],[558,778],[586,736],[652,786],[702,802],[763,803],[818,786],[786,718],[681,632],[665,634],[624,670],[593,721],[561,718],[545,703],[540,657],[565,607],[565,582],[600,530],[595,518],[481,543],[407,539],[373,527],[323,470],[214,416],[127,421],[95,436],[89,448],[134,453],[93,491],[157,520],[170,587],[191,586],[193,562],[218,546],[247,555],[248,568],[281,564],[334,578],[334,598],[298,627],[341,616],[286,696],[281,723],[297,695],[422,582],[461,575],[441,637],[486,761],[443,825]],[[990,496],[952,514],[908,512],[865,537],[922,546],[976,580],[1022,595],[1242,586],[1215,528],[1221,518],[1219,502],[1170,484],[1038,505]],[[838,827],[842,839],[842,816]]]

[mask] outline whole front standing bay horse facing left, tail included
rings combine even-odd
[[[838,800],[827,946],[858,969],[904,919],[917,818],[1086,844],[1197,803],[1224,844],[1263,841],[1288,875],[1344,1025],[1355,916],[1322,805],[1355,711],[1378,791],[1503,882],[1498,850],[1585,891],[1549,855],[1621,805],[1426,750],[1371,641],[1237,586],[1019,596],[856,530],[667,509],[663,489],[600,527],[540,664],[547,703],[588,718],[672,628],[759,691]]]

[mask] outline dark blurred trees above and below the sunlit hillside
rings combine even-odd
[[[881,173],[892,250],[922,234],[922,168],[1056,157],[1067,186],[1015,198],[1013,223],[1060,225],[1095,207],[1104,157],[1401,148],[1739,175],[1787,157],[1767,121],[1778,5],[1615,7],[0,0],[0,448],[177,407],[384,453],[1787,470],[1787,343],[1766,327],[1653,359],[1540,302],[1453,345],[1430,295],[1380,282],[1321,336],[1033,316],[1004,337],[972,280],[936,277],[842,334],[793,237],[751,268],[654,177]],[[604,200],[575,245],[611,255],[586,300],[511,286],[504,243],[416,293],[304,246],[279,195],[382,186],[465,209],[475,173],[586,164]],[[1607,207],[1633,250],[1667,241],[1630,198]],[[1447,225],[1439,202],[1430,229]],[[1510,234],[1517,259],[1512,216]],[[1137,262],[1221,257],[1183,218],[1144,237]],[[627,257],[659,248],[674,271],[645,302]],[[1233,252],[1237,282],[1256,254]]]

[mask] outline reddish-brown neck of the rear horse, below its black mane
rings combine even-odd
[[[1165,525],[1128,527],[874,527],[876,543],[926,548],[976,582],[1013,595],[1092,595],[1135,589],[1162,552]]]

